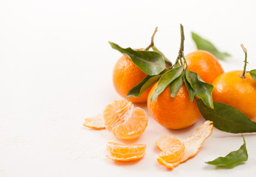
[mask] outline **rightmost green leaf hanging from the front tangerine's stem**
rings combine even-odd
[[[210,83],[205,83],[196,72],[189,72],[191,86],[195,91],[195,95],[203,100],[204,104],[210,108],[214,108],[212,102],[212,89]]]

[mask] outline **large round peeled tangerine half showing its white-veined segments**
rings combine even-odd
[[[134,108],[127,100],[117,100],[106,106],[105,127],[119,139],[136,139],[148,126],[148,117],[142,108]]]

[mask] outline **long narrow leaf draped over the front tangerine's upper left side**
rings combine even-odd
[[[181,75],[183,71],[183,66],[178,66],[176,68],[171,69],[170,71],[166,72],[162,75],[159,82],[157,83],[156,90],[153,92],[153,95],[151,97],[151,102],[153,100],[156,100],[156,97],[159,96],[159,94],[162,93],[162,91],[165,90],[165,88],[173,82],[177,77]]]

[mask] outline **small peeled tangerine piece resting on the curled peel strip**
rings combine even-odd
[[[185,145],[180,139],[169,136],[164,143],[164,150],[159,157],[165,162],[177,162],[184,156]]]

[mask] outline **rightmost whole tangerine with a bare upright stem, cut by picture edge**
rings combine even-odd
[[[256,121],[256,81],[246,72],[225,72],[217,77],[212,85],[212,99],[242,111],[247,117]]]

